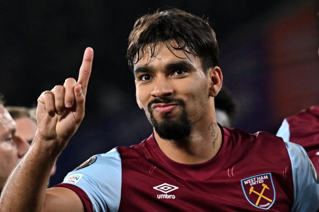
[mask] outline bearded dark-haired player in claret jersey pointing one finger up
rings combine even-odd
[[[93,60],[87,48],[78,82],[69,78],[39,97],[38,131],[4,188],[0,211],[317,210],[318,185],[300,146],[216,123],[223,77],[206,20],[178,9],[142,16],[127,55],[137,104],[154,133],[91,157],[45,190],[49,167],[84,117]]]

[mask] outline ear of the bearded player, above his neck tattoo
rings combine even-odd
[[[219,93],[223,84],[223,74],[218,66],[211,67],[207,74],[210,80],[208,94],[212,97],[215,97]]]

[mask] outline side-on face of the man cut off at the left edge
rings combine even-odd
[[[29,144],[16,136],[16,124],[0,105],[0,190]]]

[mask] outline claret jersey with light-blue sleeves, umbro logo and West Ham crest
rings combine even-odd
[[[222,129],[218,154],[200,164],[169,159],[153,134],[95,155],[63,183],[85,211],[316,211],[316,184],[302,147],[269,133]]]

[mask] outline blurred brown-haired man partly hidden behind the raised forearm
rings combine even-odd
[[[38,129],[36,121],[36,108],[26,108],[18,106],[7,106],[9,114],[17,126],[17,135],[29,144],[32,143],[35,132]],[[56,173],[56,165],[53,166],[51,176]]]

